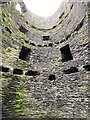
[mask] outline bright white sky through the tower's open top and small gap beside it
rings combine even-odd
[[[23,0],[28,10],[41,17],[52,16],[63,0]],[[16,8],[20,11],[19,5]]]

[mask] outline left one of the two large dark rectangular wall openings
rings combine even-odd
[[[21,49],[20,55],[19,55],[19,59],[29,60],[30,54],[31,54],[31,49],[27,48],[25,46],[22,46],[22,49]]]

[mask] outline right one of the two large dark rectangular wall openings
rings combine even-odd
[[[61,50],[62,62],[66,62],[73,59],[69,45],[60,48],[60,50]]]

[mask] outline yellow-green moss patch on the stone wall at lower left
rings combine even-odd
[[[8,82],[8,85],[3,88],[3,114],[6,114],[8,117],[26,115],[24,105],[25,90],[23,79],[13,76],[12,79]],[[7,106],[7,108],[5,106]],[[10,113],[7,112],[8,109]]]

